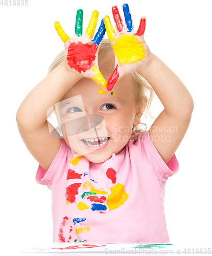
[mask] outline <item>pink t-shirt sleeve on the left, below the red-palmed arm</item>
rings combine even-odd
[[[46,185],[50,189],[52,188],[52,186],[56,185],[62,177],[62,172],[66,164],[67,153],[68,145],[65,143],[64,139],[61,139],[60,149],[47,172],[39,164],[35,178],[36,182],[41,185]]]

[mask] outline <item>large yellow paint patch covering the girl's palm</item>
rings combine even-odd
[[[123,34],[115,41],[115,45],[112,45],[112,48],[121,66],[135,63],[146,57],[144,45],[140,44],[133,34]]]

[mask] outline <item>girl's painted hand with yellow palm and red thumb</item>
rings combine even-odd
[[[104,19],[107,35],[115,54],[115,69],[107,81],[109,91],[122,76],[142,69],[144,65],[150,63],[152,58],[152,53],[144,40],[146,17],[143,16],[140,19],[139,28],[134,33],[128,4],[123,5],[123,11],[127,30],[124,28],[117,6],[112,7],[117,33],[115,33],[110,23],[109,16]]]

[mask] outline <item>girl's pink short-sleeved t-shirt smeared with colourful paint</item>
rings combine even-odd
[[[175,155],[166,164],[149,131],[103,163],[75,153],[62,139],[48,172],[39,165],[36,174],[52,190],[53,242],[170,242],[164,189],[179,169]]]

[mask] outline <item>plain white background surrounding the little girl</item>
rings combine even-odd
[[[46,76],[63,49],[54,22],[58,20],[72,36],[78,9],[84,10],[85,32],[95,9],[100,13],[98,25],[105,15],[113,22],[113,5],[117,5],[124,20],[123,1],[28,0],[28,6],[0,5],[3,245],[39,245],[51,243],[53,238],[51,191],[35,182],[38,163],[23,143],[15,117],[22,100]],[[146,16],[145,40],[151,51],[179,76],[194,99],[190,127],[176,151],[180,169],[167,181],[165,210],[171,243],[195,248],[212,247],[210,3],[128,1],[135,29],[140,17]],[[162,110],[155,96],[153,115],[158,116]]]

